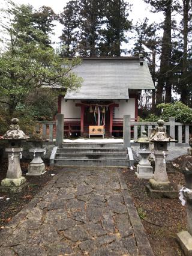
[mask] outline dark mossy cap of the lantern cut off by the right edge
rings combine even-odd
[[[172,165],[183,174],[192,174],[192,156],[184,154],[173,160]]]

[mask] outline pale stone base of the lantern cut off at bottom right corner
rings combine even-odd
[[[181,231],[176,235],[176,239],[181,245],[181,248],[184,250],[185,255],[192,255],[192,236],[188,231]]]

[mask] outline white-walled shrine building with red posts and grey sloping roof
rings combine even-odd
[[[143,56],[83,58],[73,72],[83,82],[76,91],[59,97],[66,136],[88,136],[89,126],[104,126],[106,136],[122,136],[123,117],[137,121],[142,90],[154,83]]]

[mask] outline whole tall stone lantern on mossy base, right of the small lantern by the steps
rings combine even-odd
[[[167,144],[175,142],[175,139],[166,133],[163,127],[163,120],[159,120],[157,124],[158,127],[151,133],[148,139],[148,141],[154,142],[155,172],[154,178],[149,180],[146,189],[151,197],[176,198],[178,197],[178,192],[173,189],[166,171]]]

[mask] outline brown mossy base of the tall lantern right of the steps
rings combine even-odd
[[[178,198],[178,191],[173,189],[169,181],[160,182],[151,178],[149,184],[146,185],[146,190],[152,198]]]

